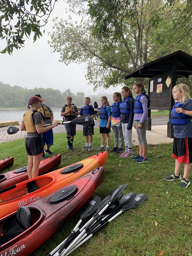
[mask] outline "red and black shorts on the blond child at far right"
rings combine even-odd
[[[173,139],[172,157],[178,159],[179,163],[192,162],[192,138]]]

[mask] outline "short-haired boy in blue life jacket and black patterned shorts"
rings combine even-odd
[[[82,107],[82,109],[80,110],[79,115],[85,115],[85,114],[89,114],[91,115],[92,119],[95,116],[95,111],[92,105],[90,105],[91,100],[89,97],[85,97],[84,99],[84,103],[85,106]],[[91,125],[83,125],[83,135],[85,136],[85,147],[83,147],[83,150],[87,150],[91,151],[93,150],[92,147],[92,142],[93,142],[93,136],[94,135],[94,125],[95,123],[93,122]]]

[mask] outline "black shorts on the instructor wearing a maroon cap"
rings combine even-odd
[[[42,138],[25,138],[25,148],[27,155],[39,155],[43,153],[43,139]]]

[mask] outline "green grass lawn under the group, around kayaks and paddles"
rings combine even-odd
[[[111,148],[113,147],[113,133]],[[67,151],[66,133],[54,134],[54,145],[51,151],[62,154],[59,168],[78,162],[96,154],[101,144],[99,129],[95,129],[91,152],[81,151],[85,145],[82,131],[77,132],[74,140],[74,151]],[[105,143],[106,145],[106,143]],[[148,162],[136,164],[130,158],[120,158],[109,153],[105,165],[105,180],[94,195],[102,199],[121,184],[130,182],[124,193],[133,191],[146,193],[146,201],[135,209],[127,210],[114,219],[108,226],[91,238],[87,243],[74,251],[75,256],[157,256],[165,251],[166,256],[191,256],[192,232],[192,191],[179,189],[178,181],[166,182],[164,178],[174,171],[172,143],[149,145]],[[133,147],[133,154],[139,152]],[[0,159],[14,156],[17,169],[27,165],[24,139],[0,144]],[[183,174],[183,167],[181,173]],[[190,179],[190,176],[189,176]],[[62,242],[76,225],[81,212],[78,212],[67,224],[63,225],[53,237],[40,246],[31,256],[49,254]],[[157,225],[155,225],[155,223]]]

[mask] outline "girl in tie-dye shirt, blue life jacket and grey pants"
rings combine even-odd
[[[124,147],[124,138],[123,131],[120,128],[120,104],[122,102],[121,93],[113,94],[114,103],[111,107],[111,129],[114,133],[114,148],[110,151],[111,153],[115,152],[115,154],[120,154],[123,152]],[[118,149],[118,141],[119,141],[119,149]]]

